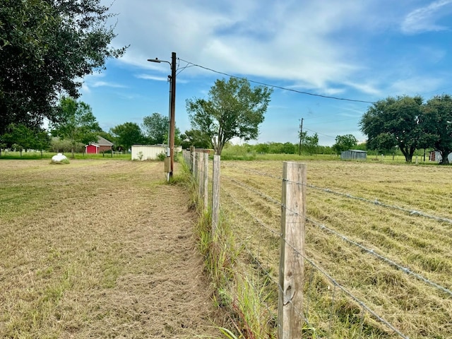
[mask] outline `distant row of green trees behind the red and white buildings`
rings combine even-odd
[[[125,122],[103,131],[90,105],[73,97],[62,97],[54,107],[54,121],[49,131],[32,128],[25,124],[12,123],[0,135],[1,150],[11,148],[23,150],[63,150],[74,153],[84,152],[85,145],[96,142],[99,136],[114,143],[114,150],[129,150],[134,144],[165,144],[168,138],[169,119],[159,113],[143,118],[141,126]],[[180,143],[181,133],[176,128],[175,138]]]

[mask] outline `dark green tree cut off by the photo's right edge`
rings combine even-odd
[[[432,147],[441,154],[441,165],[448,164],[452,152],[452,97],[436,95],[424,106],[422,148]]]

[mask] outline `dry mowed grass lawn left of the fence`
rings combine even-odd
[[[161,162],[0,161],[2,338],[218,337]]]

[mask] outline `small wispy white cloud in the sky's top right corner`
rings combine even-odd
[[[437,0],[421,8],[408,13],[401,25],[402,32],[415,34],[420,32],[431,32],[448,30],[448,26],[436,23],[440,18],[452,13],[452,0]]]

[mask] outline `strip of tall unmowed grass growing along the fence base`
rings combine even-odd
[[[182,162],[184,164],[184,162]],[[225,309],[231,329],[219,327],[226,338],[275,338],[276,311],[268,307],[271,293],[268,282],[258,272],[250,274],[249,263],[238,245],[237,234],[233,232],[230,218],[220,211],[219,225],[212,230],[212,212],[203,210],[195,180],[189,167],[182,165],[191,192],[191,201],[198,213],[196,236],[198,249],[203,255],[206,273],[213,285],[213,302]],[[186,175],[189,174],[189,178]],[[274,296],[273,296],[274,297]]]

